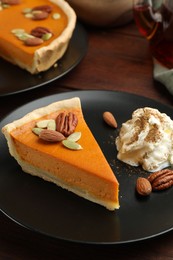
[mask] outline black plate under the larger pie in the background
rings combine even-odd
[[[0,96],[12,95],[41,87],[71,71],[77,66],[88,48],[87,34],[84,27],[76,24],[68,49],[58,61],[58,67],[32,75],[29,72],[0,58]]]

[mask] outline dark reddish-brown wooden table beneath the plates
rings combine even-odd
[[[0,98],[1,118],[37,98],[79,89],[131,92],[173,105],[166,88],[152,77],[148,43],[132,23],[91,29],[88,52],[63,78],[41,88]],[[157,218],[157,216],[156,216]],[[150,223],[148,223],[150,225]],[[0,213],[0,259],[173,259],[173,231],[149,240],[122,245],[84,245],[59,241],[27,230]]]

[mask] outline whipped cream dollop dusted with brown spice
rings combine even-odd
[[[173,121],[157,109],[135,110],[115,140],[117,158],[149,172],[173,164]]]

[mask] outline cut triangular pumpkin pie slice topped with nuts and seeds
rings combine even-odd
[[[74,97],[38,108],[2,128],[24,172],[105,206],[119,208],[119,183]]]

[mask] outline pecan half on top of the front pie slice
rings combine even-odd
[[[64,136],[72,134],[75,131],[77,124],[78,118],[72,112],[69,112],[68,114],[62,112],[56,118],[56,130]]]

